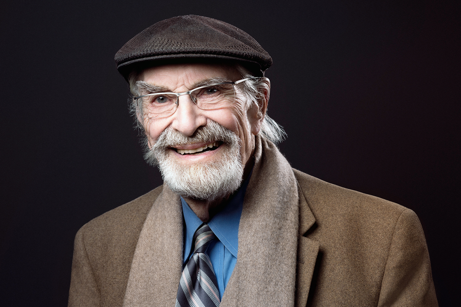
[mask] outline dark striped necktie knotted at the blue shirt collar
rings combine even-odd
[[[210,226],[197,229],[192,242],[194,254],[184,266],[176,296],[176,307],[218,307],[219,290],[210,258],[206,254],[208,244],[216,236]]]

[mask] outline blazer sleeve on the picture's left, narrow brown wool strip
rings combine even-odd
[[[83,229],[75,236],[68,307],[99,307],[100,290],[85,248]]]

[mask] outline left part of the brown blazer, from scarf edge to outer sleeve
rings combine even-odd
[[[139,234],[162,190],[160,186],[80,228],[74,241],[69,306],[123,305]]]

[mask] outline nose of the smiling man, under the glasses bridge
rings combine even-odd
[[[178,97],[178,106],[171,127],[184,135],[191,136],[198,127],[207,124],[207,118],[202,113],[203,111],[192,101],[190,95],[181,95]]]

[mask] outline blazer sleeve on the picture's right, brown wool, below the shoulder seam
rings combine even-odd
[[[396,222],[378,307],[438,306],[426,239],[416,214],[406,209]]]

